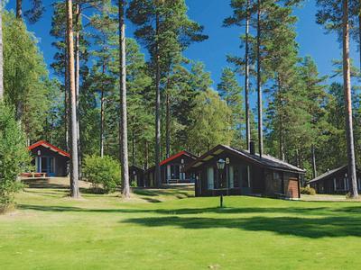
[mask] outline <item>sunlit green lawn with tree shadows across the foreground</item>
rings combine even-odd
[[[0,216],[0,269],[357,269],[359,202],[27,189]]]

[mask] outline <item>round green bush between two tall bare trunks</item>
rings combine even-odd
[[[120,165],[112,157],[86,156],[83,173],[94,188],[102,186],[105,193],[116,191],[120,184]]]

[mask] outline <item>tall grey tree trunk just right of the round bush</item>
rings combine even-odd
[[[120,59],[120,144],[121,144],[121,161],[122,161],[122,187],[123,197],[130,197],[129,187],[129,166],[128,166],[128,127],[126,112],[126,66],[125,66],[125,0],[119,0],[119,59]]]

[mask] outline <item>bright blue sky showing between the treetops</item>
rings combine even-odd
[[[14,9],[14,2],[7,4],[7,9]],[[25,4],[29,1],[24,1]],[[34,25],[28,25],[30,31],[39,39],[39,46],[44,55],[45,61],[50,65],[55,50],[51,46],[53,41],[50,36],[51,30],[51,0],[44,0],[47,5],[47,12],[42,20]],[[186,0],[189,6],[190,18],[205,26],[205,33],[209,39],[192,44],[185,54],[188,58],[199,60],[205,63],[206,68],[211,72],[212,78],[218,84],[221,70],[227,67],[227,54],[242,55],[244,49],[239,48],[239,35],[244,33],[241,28],[223,28],[224,18],[232,14],[228,0]],[[26,6],[25,8],[26,9]],[[331,60],[340,58],[341,49],[335,34],[325,34],[325,31],[315,23],[316,7],[314,0],[306,0],[303,6],[295,11],[299,17],[296,25],[297,41],[300,44],[300,55],[310,55],[315,59],[319,72],[322,75],[329,75],[332,72]],[[127,35],[132,36],[134,27],[128,23]],[[358,63],[356,46],[351,44],[352,53]],[[357,65],[358,66],[358,65]],[[240,78],[242,84],[242,78]]]

